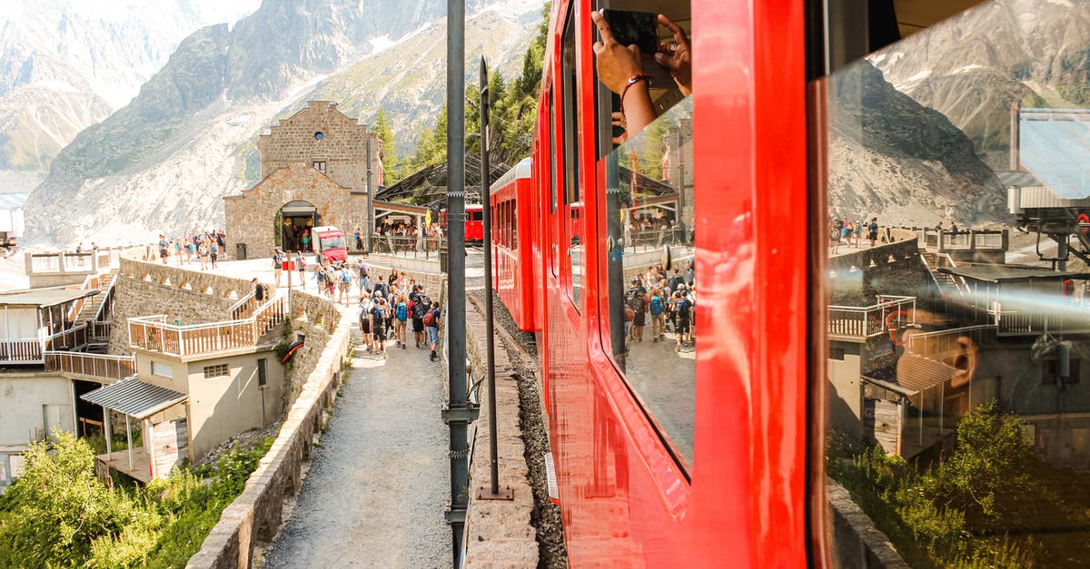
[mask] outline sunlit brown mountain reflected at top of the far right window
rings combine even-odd
[[[1013,102],[1090,102],[1090,2],[993,0],[870,59],[897,89],[961,129],[989,164],[1006,169]]]

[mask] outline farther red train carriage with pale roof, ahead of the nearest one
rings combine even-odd
[[[524,158],[492,184],[493,287],[522,331],[534,331],[531,266],[531,159]],[[522,220],[522,223],[519,223]]]

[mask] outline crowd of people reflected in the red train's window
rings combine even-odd
[[[651,320],[651,340],[666,341],[666,332],[675,335],[675,350],[695,346],[693,325],[697,306],[692,258],[686,269],[675,268],[667,275],[663,264],[649,266],[647,270],[632,278],[625,291],[625,353],[632,342],[642,343],[644,328]]]

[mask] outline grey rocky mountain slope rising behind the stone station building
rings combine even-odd
[[[482,53],[517,75],[541,9],[467,2],[467,77]],[[26,203],[27,241],[222,227],[222,196],[256,181],[257,136],[306,100],[364,122],[382,105],[399,145],[411,141],[444,104],[445,12],[441,0],[265,0],[233,28],[197,31],[128,106],[60,152]]]

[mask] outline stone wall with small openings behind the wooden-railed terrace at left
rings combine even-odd
[[[109,353],[130,353],[128,318],[169,313],[171,322],[180,319],[182,324],[229,320],[231,305],[253,292],[253,284],[245,279],[143,261],[145,257],[121,257],[113,286]]]

